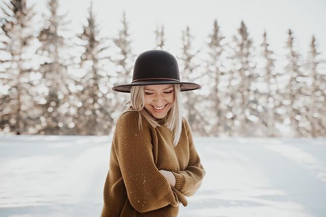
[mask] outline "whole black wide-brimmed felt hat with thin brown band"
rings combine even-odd
[[[164,50],[147,50],[136,59],[133,67],[132,82],[117,85],[114,91],[130,93],[132,86],[180,84],[180,91],[200,89],[196,83],[180,82],[176,58]]]

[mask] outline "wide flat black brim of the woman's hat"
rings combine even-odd
[[[181,85],[180,91],[192,91],[201,88],[199,84],[190,82],[177,82],[173,80],[140,80],[127,85],[117,85],[112,88],[114,91],[130,93],[132,86],[144,86],[144,85]]]

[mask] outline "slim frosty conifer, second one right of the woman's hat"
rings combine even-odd
[[[209,135],[217,137],[225,131],[228,131],[226,112],[227,105],[223,101],[225,99],[226,88],[223,83],[223,76],[225,75],[226,68],[224,66],[225,56],[225,37],[222,35],[218,21],[214,20],[212,32],[208,36],[207,42],[207,63],[205,76],[207,76],[207,88],[209,94],[206,101],[209,101],[209,106],[206,108],[208,115],[207,120],[210,122],[211,130]],[[224,78],[225,79],[225,78]]]

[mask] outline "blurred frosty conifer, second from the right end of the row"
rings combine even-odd
[[[288,30],[287,48],[287,66],[285,73],[289,77],[285,88],[285,100],[287,114],[289,117],[289,126],[294,137],[309,136],[308,104],[310,96],[307,95],[307,76],[304,74],[300,64],[300,56],[294,46],[294,36],[291,30]]]

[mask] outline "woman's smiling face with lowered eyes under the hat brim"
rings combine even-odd
[[[145,108],[154,118],[164,118],[174,103],[173,85],[146,85]]]

